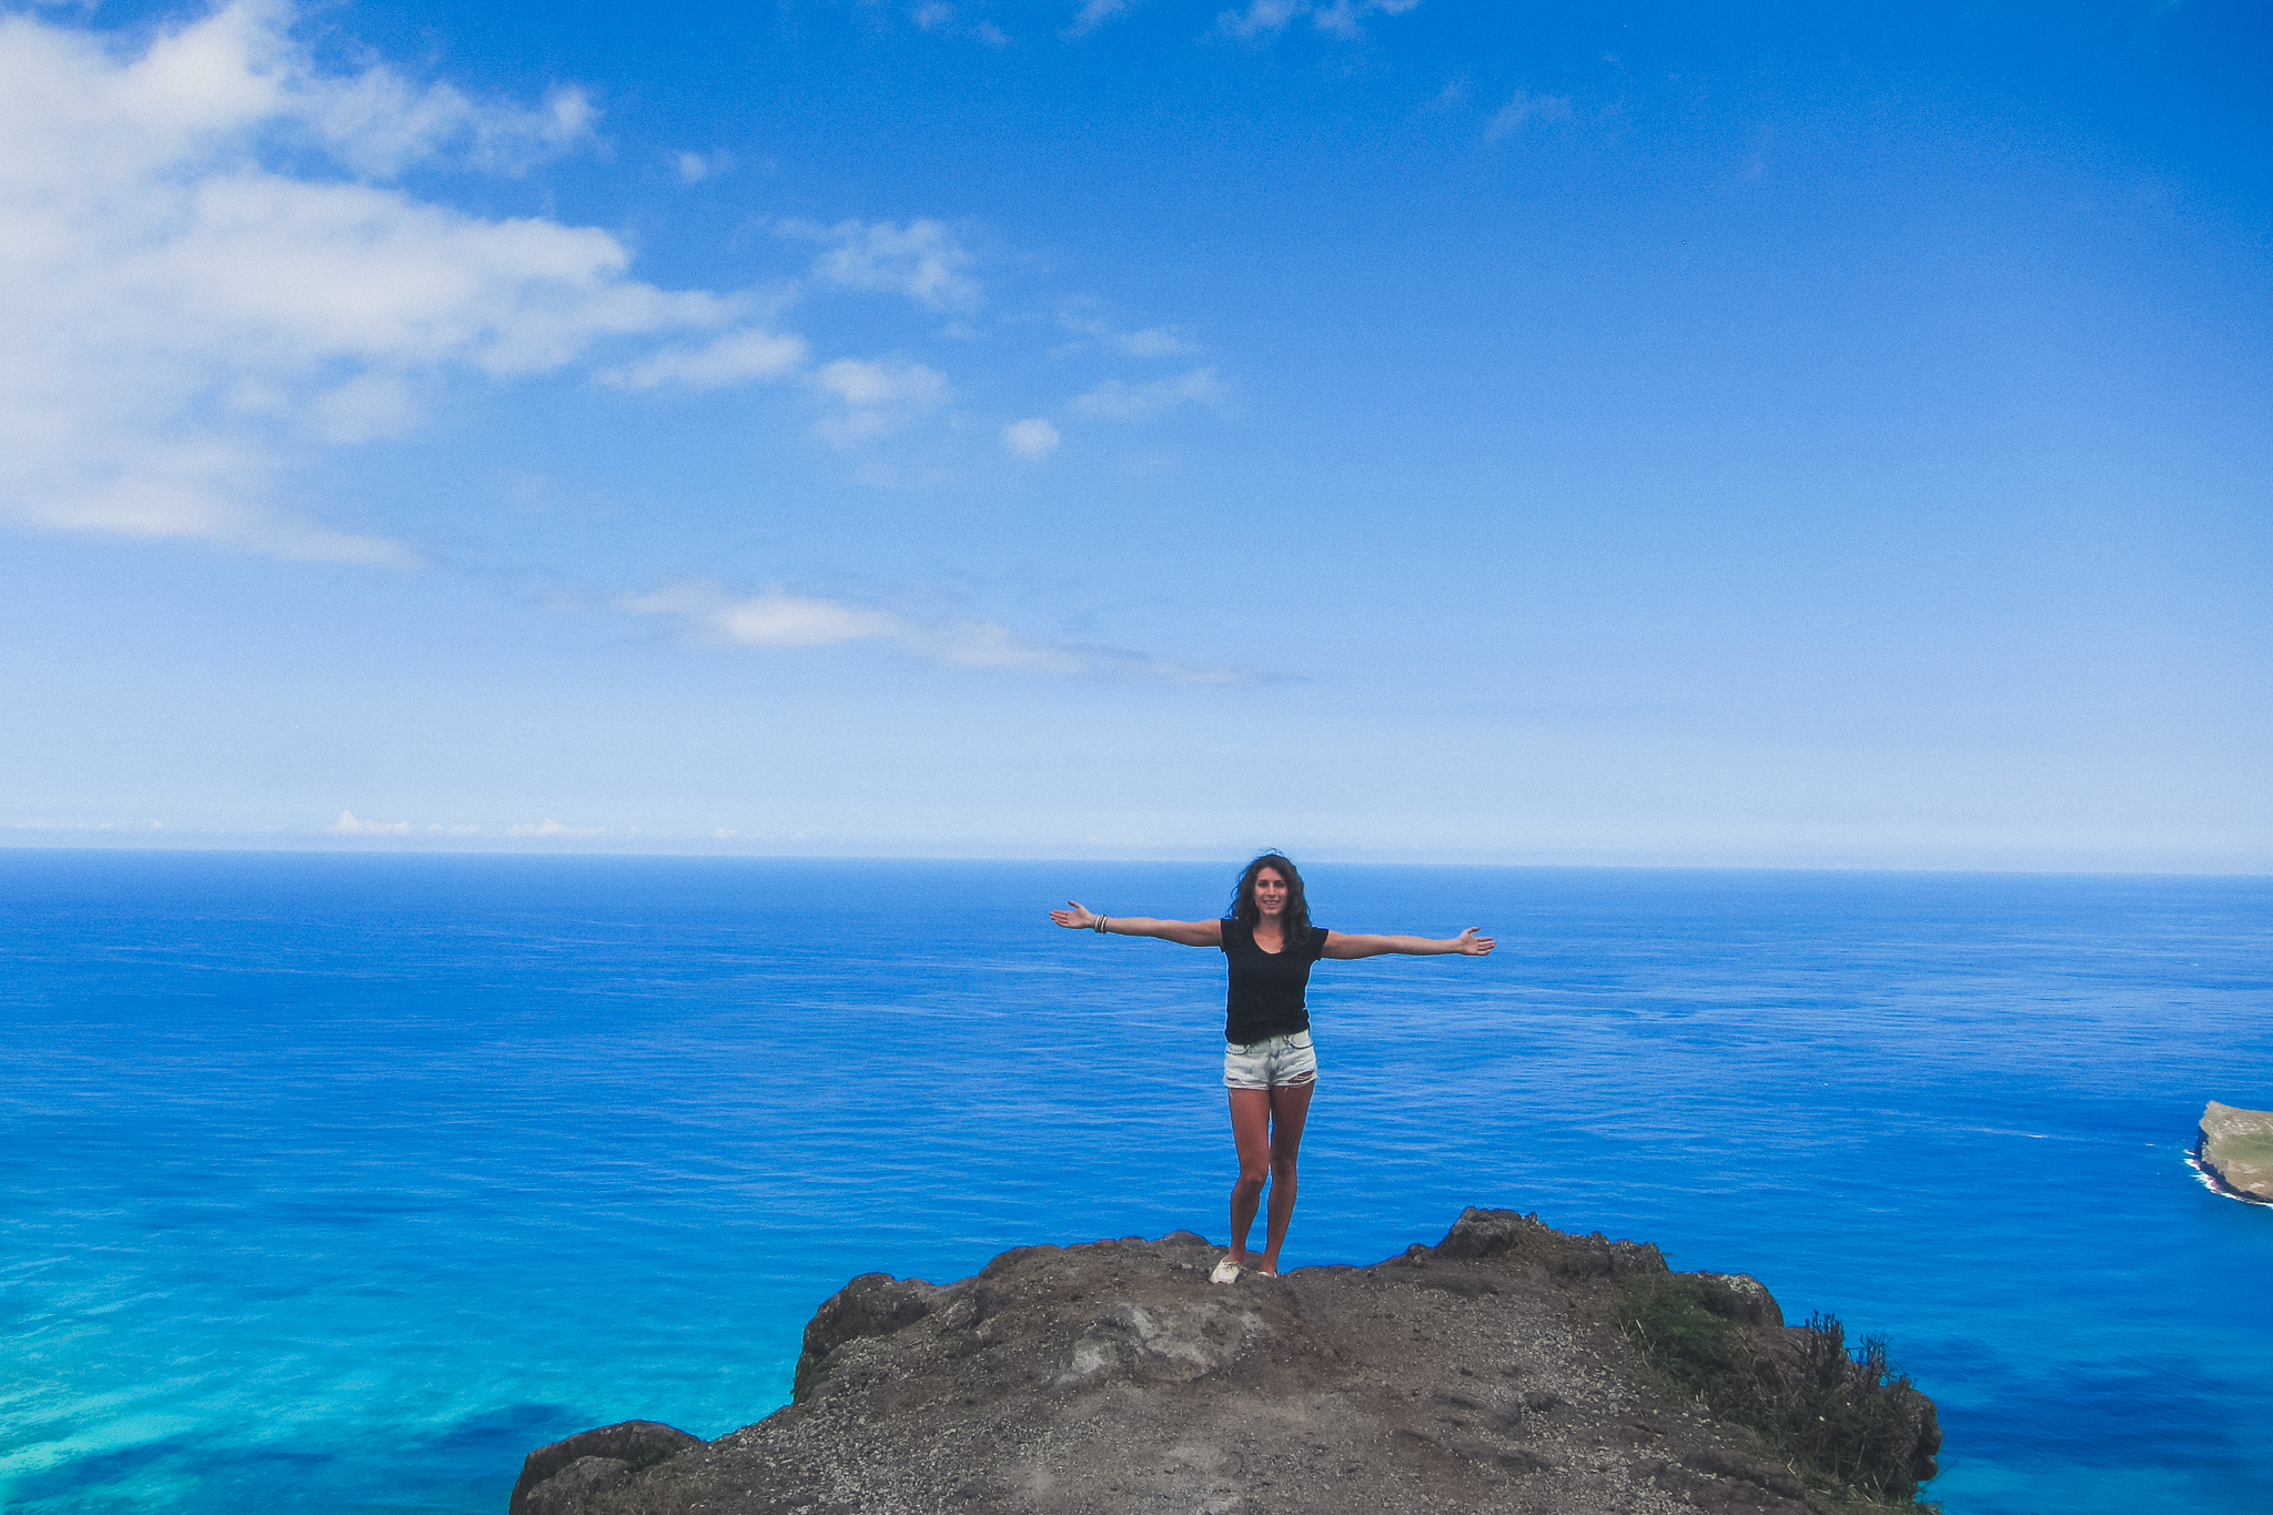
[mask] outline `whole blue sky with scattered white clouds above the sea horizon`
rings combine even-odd
[[[0,845],[2266,870],[2268,43],[16,7]]]

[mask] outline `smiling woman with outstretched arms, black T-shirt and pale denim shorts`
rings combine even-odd
[[[1384,952],[1434,956],[1462,952],[1484,956],[1493,940],[1468,927],[1459,936],[1343,936],[1309,924],[1302,874],[1277,852],[1266,852],[1239,874],[1232,913],[1223,920],[1152,920],[1150,915],[1093,915],[1075,899],[1050,911],[1050,920],[1073,931],[1105,936],[1157,936],[1187,947],[1221,947],[1230,959],[1232,988],[1223,1018],[1223,1086],[1232,1099],[1232,1140],[1239,1145],[1239,1183],[1232,1186],[1232,1249],[1209,1274],[1232,1283],[1255,1267],[1248,1229],[1271,1181],[1271,1220],[1264,1256],[1255,1274],[1277,1277],[1277,1252],[1293,1217],[1296,1152],[1309,1093],[1318,1083],[1318,1056],[1309,1043],[1309,1008],[1302,990],[1318,959],[1368,959]]]

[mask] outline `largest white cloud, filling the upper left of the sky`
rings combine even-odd
[[[114,36],[0,18],[0,513],[300,559],[400,543],[282,516],[311,445],[400,432],[450,368],[561,368],[739,304],[625,277],[607,232],[486,220],[373,179],[450,154],[518,168],[591,136],[575,91],[473,102],[320,70],[241,0]],[[323,168],[280,168],[327,157]],[[341,177],[345,170],[350,177]]]

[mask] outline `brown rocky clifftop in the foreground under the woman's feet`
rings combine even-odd
[[[793,1401],[527,1456],[511,1515],[1805,1515],[1918,1508],[1934,1404],[1743,1274],[1466,1211],[1371,1267],[1214,1286],[1177,1231],[864,1274]]]

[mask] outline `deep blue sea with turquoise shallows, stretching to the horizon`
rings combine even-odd
[[[0,852],[0,1504],[484,1513],[868,1270],[1221,1238],[1225,865]],[[1466,1204],[1882,1331],[1950,1515],[2273,1510],[2273,881],[1309,870],[1287,1265]]]

